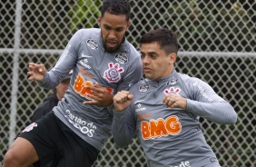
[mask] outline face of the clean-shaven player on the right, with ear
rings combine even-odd
[[[165,54],[158,43],[142,44],[141,54],[146,78],[157,80],[172,74],[176,54]]]

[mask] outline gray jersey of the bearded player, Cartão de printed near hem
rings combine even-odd
[[[55,115],[84,141],[101,150],[111,135],[113,110],[108,107],[84,104],[92,94],[86,85],[107,87],[111,93],[127,90],[142,78],[139,53],[126,39],[113,54],[104,51],[100,29],[82,29],[74,34],[54,68],[44,75],[39,85],[54,88],[74,70],[64,98],[54,107]]]

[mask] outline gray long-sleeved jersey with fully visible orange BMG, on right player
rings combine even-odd
[[[235,123],[237,115],[212,87],[176,71],[158,81],[143,80],[131,87],[133,102],[122,113],[113,113],[113,137],[117,145],[131,143],[133,134],[143,146],[148,166],[219,166],[205,142],[199,116],[215,123]],[[166,93],[187,98],[187,109],[167,108]]]

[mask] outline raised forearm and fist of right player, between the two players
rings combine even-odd
[[[113,141],[121,148],[126,147],[133,140],[136,122],[130,104],[133,95],[127,91],[118,92],[113,97]]]

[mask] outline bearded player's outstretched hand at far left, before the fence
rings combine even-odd
[[[46,73],[46,69],[44,64],[28,64],[29,72],[27,72],[28,80],[34,81],[42,81],[44,79],[44,74]]]

